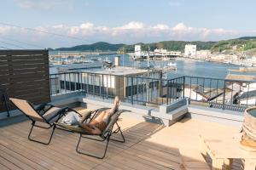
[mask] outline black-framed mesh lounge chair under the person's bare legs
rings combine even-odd
[[[99,110],[96,110],[96,111],[90,111],[88,112],[87,115],[84,115],[83,119],[81,120],[81,123],[83,122],[91,122],[96,116],[98,116],[102,111],[105,111],[105,110],[108,110],[110,108],[102,108],[102,109],[99,109]],[[59,127],[62,127],[62,128],[65,128],[71,132],[74,132],[74,133],[79,133],[80,134],[80,137],[79,137],[79,142],[76,146],[76,151],[79,153],[79,154],[83,154],[83,155],[86,155],[86,156],[92,156],[92,157],[96,157],[98,159],[103,159],[105,156],[106,156],[106,152],[108,150],[108,142],[110,140],[110,137],[113,133],[120,133],[121,134],[121,140],[118,140],[118,139],[111,139],[111,140],[114,140],[114,141],[117,141],[117,142],[121,142],[121,143],[125,143],[125,137],[121,131],[121,128],[119,127],[119,124],[118,124],[118,119],[119,119],[119,116],[121,113],[125,112],[125,110],[119,110],[119,111],[116,111],[108,120],[108,125],[106,127],[106,129],[101,133],[101,134],[95,134],[95,133],[89,133],[88,131],[86,131],[84,128],[82,127],[79,127],[79,126],[71,126],[71,125],[67,125],[67,124],[63,124],[63,123],[60,123],[60,122],[55,122],[55,125],[59,126]],[[113,130],[113,126],[114,124],[116,125],[116,129]],[[93,136],[97,136],[97,137],[100,137],[99,139],[96,139],[94,138]],[[107,140],[107,143],[105,145],[105,150],[103,151],[103,155],[102,156],[96,156],[95,154],[93,153],[90,153],[90,152],[82,152],[79,150],[79,144],[80,144],[80,141],[81,139],[84,138],[84,139],[91,139],[91,140],[96,140],[96,141],[101,141],[101,142],[104,142],[105,140]]]

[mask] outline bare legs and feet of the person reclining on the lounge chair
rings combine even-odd
[[[121,101],[118,96],[113,101],[113,107],[107,111],[102,111],[95,119],[90,123],[80,123],[80,127],[83,127],[90,133],[101,134],[108,125],[108,119],[113,115],[115,111],[119,109]]]

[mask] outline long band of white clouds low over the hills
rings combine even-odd
[[[77,26],[61,24],[55,26],[37,26],[33,29],[37,31],[0,25],[0,35],[2,37],[12,37],[19,41],[33,42],[45,48],[59,48],[99,41],[113,43],[158,42],[165,40],[217,41],[242,36],[253,36],[256,34],[256,31],[192,27],[186,26],[182,22],[177,23],[175,26],[168,26],[166,24],[149,26],[138,21],[131,21],[123,26],[113,27],[95,26],[93,23],[84,22]],[[45,31],[63,36],[53,36],[45,33]]]

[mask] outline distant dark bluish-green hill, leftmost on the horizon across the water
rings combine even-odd
[[[71,48],[56,48],[59,51],[117,51],[125,44],[111,44],[108,42],[96,42],[92,44],[78,45]]]

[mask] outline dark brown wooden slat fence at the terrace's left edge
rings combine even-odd
[[[49,102],[48,50],[0,50],[0,89],[34,105]],[[0,100],[0,112],[5,111]]]

